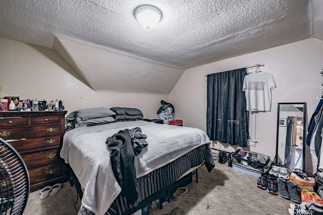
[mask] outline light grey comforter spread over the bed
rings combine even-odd
[[[121,192],[112,170],[106,138],[133,127],[141,128],[149,144],[135,156],[137,178],[210,142],[206,133],[197,128],[146,121],[114,122],[66,132],[60,155],[72,167],[84,189],[83,206],[95,214],[104,214]]]

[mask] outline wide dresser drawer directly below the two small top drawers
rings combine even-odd
[[[61,125],[38,125],[17,128],[0,128],[0,137],[4,139],[21,139],[29,137],[53,136],[61,134]]]

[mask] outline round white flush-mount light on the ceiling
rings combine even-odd
[[[134,14],[140,25],[147,29],[153,28],[161,19],[159,9],[150,5],[139,6]]]

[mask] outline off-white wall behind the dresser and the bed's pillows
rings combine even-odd
[[[89,107],[134,107],[150,119],[158,118],[160,100],[169,99],[168,94],[95,92],[71,75],[73,71],[56,51],[0,38],[0,97],[59,99],[68,113]]]

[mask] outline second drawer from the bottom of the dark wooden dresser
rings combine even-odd
[[[21,155],[26,163],[27,169],[33,169],[40,166],[51,165],[61,162],[60,149],[46,150],[36,153]]]

